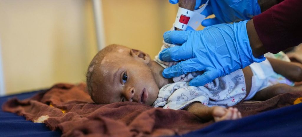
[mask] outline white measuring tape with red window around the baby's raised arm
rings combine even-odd
[[[188,26],[196,30],[206,16],[200,14],[206,8],[209,0],[199,9],[190,11],[185,8],[178,8],[178,12],[175,18],[174,27],[186,30]]]

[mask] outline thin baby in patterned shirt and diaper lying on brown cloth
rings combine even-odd
[[[98,104],[133,101],[155,107],[188,110],[204,120],[238,119],[241,118],[240,112],[230,106],[245,98],[266,100],[284,92],[302,89],[292,86],[293,83],[289,81],[302,81],[301,64],[268,60],[265,64],[271,67],[271,71],[287,79],[281,75],[276,79],[270,75],[268,79],[266,74],[262,74],[266,73],[266,68],[261,68],[265,65],[256,64],[253,70],[246,67],[204,86],[194,87],[189,86],[186,80],[202,72],[166,79],[162,77],[162,71],[169,63],[156,62],[143,51],[113,44],[99,51],[91,61],[87,71],[87,89],[92,100]],[[284,66],[287,66],[286,70]],[[256,72],[255,68],[262,70],[262,73]],[[167,88],[169,90],[165,90]],[[182,94],[195,96],[195,93],[199,94],[195,98],[181,98]]]

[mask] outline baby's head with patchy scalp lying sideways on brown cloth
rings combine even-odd
[[[149,67],[150,56],[121,45],[98,52],[87,70],[87,88],[98,104],[133,101],[151,106],[159,87]]]

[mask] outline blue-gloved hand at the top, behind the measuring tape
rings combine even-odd
[[[169,0],[176,4],[178,0]],[[198,9],[207,0],[196,0],[195,9]],[[205,19],[201,22],[203,26],[219,23],[231,23],[251,19],[261,13],[258,0],[209,0],[207,7],[201,14],[206,17],[214,14],[215,18]]]

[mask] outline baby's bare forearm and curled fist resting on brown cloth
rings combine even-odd
[[[214,119],[218,122],[240,119],[242,117],[237,108],[229,107],[226,109],[220,106],[208,107],[199,102],[192,103],[185,107],[185,110],[206,121]]]

